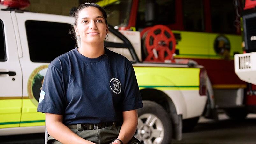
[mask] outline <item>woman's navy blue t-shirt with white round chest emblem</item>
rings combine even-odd
[[[131,62],[105,48],[87,58],[77,48],[53,60],[37,111],[63,115],[66,125],[122,122],[122,112],[143,107]]]

